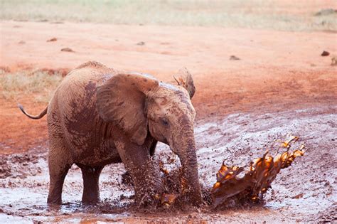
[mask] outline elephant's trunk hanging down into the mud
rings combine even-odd
[[[183,132],[175,140],[175,151],[181,160],[183,168],[183,191],[187,191],[191,202],[198,205],[202,202],[202,199],[193,127],[188,126],[183,128]]]

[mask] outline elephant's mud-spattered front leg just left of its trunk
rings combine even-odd
[[[116,146],[125,169],[132,176],[136,203],[139,206],[157,203],[156,198],[163,191],[163,183],[158,161],[150,156],[149,147],[131,142],[116,142]]]

